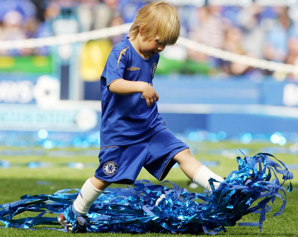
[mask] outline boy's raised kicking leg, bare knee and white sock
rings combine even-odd
[[[208,180],[214,178],[218,181],[224,181],[222,177],[212,172],[205,165],[202,165],[196,158],[192,156],[189,149],[185,149],[177,153],[174,158],[179,164],[182,171],[194,183],[204,187],[206,190],[211,191]],[[214,182],[214,188],[218,188],[220,183]]]

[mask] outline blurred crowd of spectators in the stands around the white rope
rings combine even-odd
[[[177,1],[175,1],[177,2]],[[40,38],[65,32],[78,33],[132,22],[146,0],[0,0],[0,40]],[[177,4],[181,36],[233,53],[298,64],[298,7],[202,7]],[[56,27],[57,19],[72,19],[77,24]],[[71,26],[71,27],[70,27]],[[114,37],[115,44],[122,36]],[[0,56],[47,55],[46,47],[2,50]],[[188,62],[184,73],[227,75],[272,74],[267,70],[221,60],[178,46],[161,54],[178,62]],[[189,66],[193,65],[193,66]],[[166,70],[166,69],[165,69]],[[295,75],[287,75],[295,78]]]

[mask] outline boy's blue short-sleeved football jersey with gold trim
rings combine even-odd
[[[142,58],[129,38],[113,47],[101,76],[102,120],[100,147],[129,145],[142,141],[166,128],[156,101],[150,107],[141,93],[117,95],[108,85],[119,78],[143,81],[152,86],[159,54]]]

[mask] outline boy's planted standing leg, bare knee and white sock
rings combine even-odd
[[[81,188],[81,191],[74,201],[74,208],[82,216],[85,216],[92,203],[103,193],[111,183],[101,181],[95,177],[89,178]]]

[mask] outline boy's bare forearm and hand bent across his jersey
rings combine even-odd
[[[132,82],[120,78],[110,83],[109,90],[118,95],[130,95],[139,92],[145,98],[148,107],[159,99],[154,88],[146,82]]]

